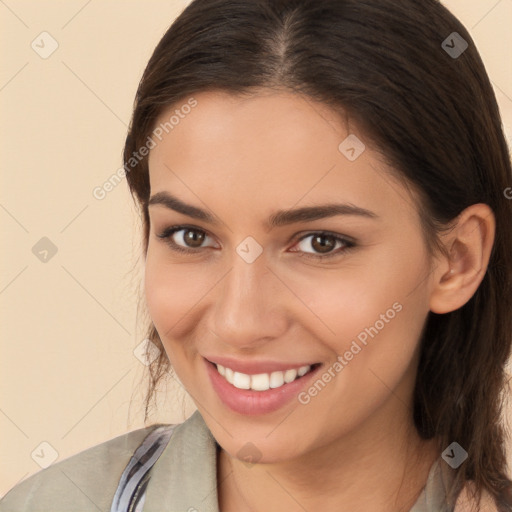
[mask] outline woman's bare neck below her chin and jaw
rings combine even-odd
[[[377,418],[377,423],[363,425],[350,436],[282,462],[248,466],[220,449],[219,509],[410,510],[439,451],[435,440],[422,440],[406,422],[409,410],[403,405],[400,404],[403,415],[395,417],[386,429]],[[404,429],[403,425],[407,427]]]

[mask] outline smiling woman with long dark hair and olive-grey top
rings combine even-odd
[[[124,168],[160,349],[146,413],[171,368],[198,411],[2,511],[512,509],[512,172],[447,9],[195,0],[145,70]]]

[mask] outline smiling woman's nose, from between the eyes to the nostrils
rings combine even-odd
[[[286,292],[263,254],[247,263],[235,253],[212,297],[210,330],[237,350],[279,338],[290,321]]]

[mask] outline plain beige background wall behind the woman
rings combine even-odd
[[[512,0],[444,3],[482,54],[510,144]],[[141,73],[187,4],[0,0],[0,496],[52,450],[61,460],[144,426],[138,219],[124,180],[101,201],[92,191],[121,166]],[[51,48],[43,31],[59,45],[46,59],[31,47]],[[46,262],[32,252],[43,237],[57,247]],[[193,412],[177,391],[152,422]]]

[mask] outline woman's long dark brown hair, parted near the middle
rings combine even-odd
[[[450,54],[449,47],[464,49]],[[443,47],[444,46],[444,47]],[[451,494],[473,480],[503,510],[512,332],[512,185],[510,155],[496,98],[475,44],[437,0],[195,0],[156,47],[137,90],[124,148],[131,193],[149,234],[147,158],[140,148],[167,109],[194,93],[250,94],[282,88],[323,102],[362,128],[404,182],[418,192],[425,243],[443,251],[439,234],[475,203],[488,204],[496,236],[474,296],[448,314],[429,312],[414,391],[419,434],[453,441],[469,454]],[[151,323],[151,322],[150,322]],[[161,349],[150,365],[146,397],[170,370]]]

